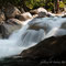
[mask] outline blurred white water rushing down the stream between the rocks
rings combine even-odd
[[[22,29],[13,32],[8,40],[0,40],[0,57],[20,54],[23,50],[37,44],[46,37],[65,35],[66,30],[61,28],[64,22],[66,23],[66,19],[42,18],[31,21],[26,25],[24,24]],[[32,24],[44,26],[46,30],[29,30]]]

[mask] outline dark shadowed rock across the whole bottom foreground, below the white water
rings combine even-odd
[[[0,61],[1,66],[56,66],[66,65],[66,35],[50,37],[23,51],[15,57]]]

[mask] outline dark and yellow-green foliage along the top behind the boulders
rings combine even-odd
[[[48,11],[54,10],[54,2],[57,0],[0,0],[0,7],[6,7],[8,2],[12,3],[13,6],[20,6],[23,8],[35,9],[38,7],[44,7]],[[66,0],[64,2],[59,2],[59,8],[64,8]]]

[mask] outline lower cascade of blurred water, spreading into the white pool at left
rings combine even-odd
[[[0,58],[20,54],[44,38],[44,30],[28,30],[29,24],[13,32],[8,40],[0,40]]]

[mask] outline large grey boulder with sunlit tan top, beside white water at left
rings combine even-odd
[[[18,19],[9,19],[0,25],[0,38],[9,37],[14,31],[21,29],[22,23]]]

